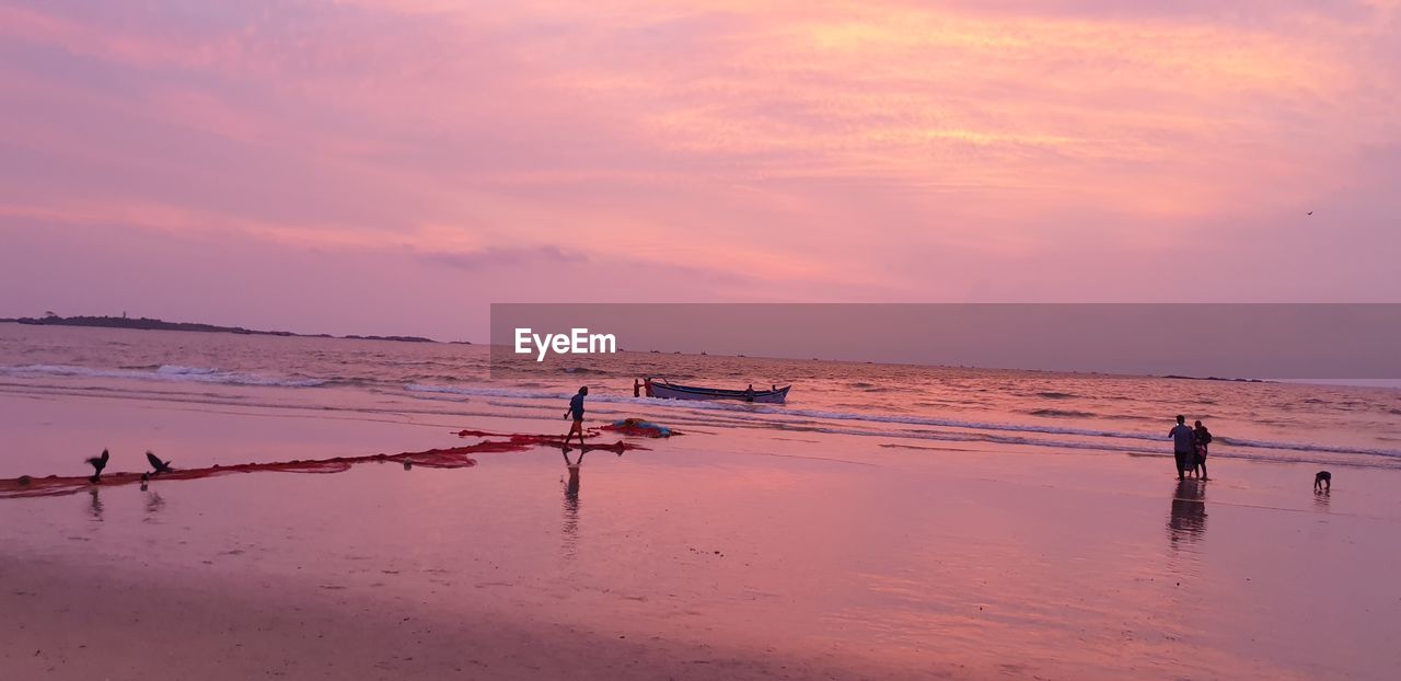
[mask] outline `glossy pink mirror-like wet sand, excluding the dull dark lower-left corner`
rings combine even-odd
[[[223,422],[219,447],[185,451],[195,461],[460,441],[282,408],[191,420],[129,398],[0,405],[84,437],[98,433],[64,419],[144,413],[161,425],[146,440],[170,451]],[[403,617],[661,636],[698,657],[834,654],[887,678],[1387,678],[1401,664],[1397,471],[1339,475],[1324,497],[1302,464],[1227,460],[1180,485],[1167,460],[1089,451],[912,453],[772,429],[647,444],[588,454],[574,489],[560,454],[535,448],[462,469],[368,462],[0,499],[0,542],[13,559],[140,566],[252,603],[276,583]]]

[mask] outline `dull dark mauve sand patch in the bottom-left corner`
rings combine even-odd
[[[3,560],[10,678],[862,678],[835,654],[775,656],[611,635],[270,579]],[[388,577],[387,577],[388,579]],[[625,629],[619,629],[625,631]],[[913,674],[912,674],[913,675]]]

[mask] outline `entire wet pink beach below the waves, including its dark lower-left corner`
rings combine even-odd
[[[0,413],[3,478],[83,474],[95,453],[53,454],[73,443],[113,447],[122,471],[147,447],[177,467],[228,465],[549,425],[11,395]],[[1216,479],[1178,485],[1156,455],[744,430],[644,444],[587,454],[577,495],[560,453],[532,448],[461,469],[371,462],[0,499],[0,666],[14,678],[1390,678],[1401,666],[1397,471],[1334,468],[1317,496],[1313,468],[1295,464],[1220,460]]]

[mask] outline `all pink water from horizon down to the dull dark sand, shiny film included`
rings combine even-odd
[[[102,447],[109,471],[140,471],[146,448],[202,468],[471,444],[461,429],[562,434],[577,381],[471,378],[485,355],[461,346],[0,329],[0,476],[83,475]],[[462,377],[410,381],[426,362]],[[1390,391],[637,362],[810,377],[792,404],[754,406],[635,401],[623,370],[593,374],[590,423],[646,416],[686,434],[591,453],[574,489],[544,448],[462,469],[157,479],[0,499],[0,544],[237,603],[282,584],[405,617],[509,612],[706,654],[835,656],[873,677],[1388,678],[1401,664],[1401,471],[1358,451],[1384,450],[1394,425],[1365,423]],[[916,378],[923,406],[870,390]],[[1286,447],[1223,444],[1213,481],[1178,485],[1157,412],[1185,394],[1219,437]],[[1331,495],[1311,490],[1318,461],[1339,467]]]

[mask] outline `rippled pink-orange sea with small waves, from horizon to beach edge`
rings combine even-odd
[[[635,398],[644,376],[793,390],[785,405]],[[488,348],[474,345],[0,324],[0,391],[21,395],[317,408],[462,427],[509,416],[563,432],[580,385],[594,422],[869,436],[911,457],[960,455],[950,443],[1168,454],[1167,430],[1182,413],[1210,427],[1213,457],[1401,468],[1394,388],[633,352],[493,380]]]

